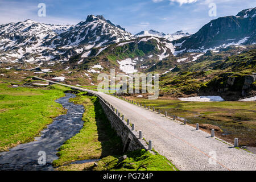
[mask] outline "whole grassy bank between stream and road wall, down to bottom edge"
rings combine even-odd
[[[175,170],[171,162],[159,154],[144,150],[122,154],[122,140],[111,128],[97,97],[79,93],[71,101],[85,106],[84,127],[60,147],[59,159],[53,162],[56,170]],[[122,155],[127,155],[127,159],[118,164],[118,157]],[[94,163],[71,164],[85,159],[101,160],[97,166]]]

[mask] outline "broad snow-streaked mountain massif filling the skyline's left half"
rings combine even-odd
[[[75,26],[24,22],[0,25],[0,61],[67,61],[86,49],[106,46],[134,36],[103,16],[89,15]]]

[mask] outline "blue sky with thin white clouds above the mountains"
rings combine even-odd
[[[38,4],[46,4],[46,17],[38,16]],[[217,16],[209,16],[215,3]],[[236,15],[256,7],[255,0],[0,0],[0,24],[32,19],[42,23],[76,24],[90,14],[103,15],[135,34],[154,29],[165,34],[183,30],[195,33],[221,16]]]

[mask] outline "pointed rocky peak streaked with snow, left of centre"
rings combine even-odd
[[[50,47],[78,46],[91,48],[106,46],[133,38],[129,32],[115,26],[103,16],[89,15],[85,22],[80,22],[71,30],[64,32],[46,43]]]

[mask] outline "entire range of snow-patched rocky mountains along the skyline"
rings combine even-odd
[[[152,57],[162,61],[186,52],[205,53],[231,45],[255,44],[255,11],[256,8],[247,9],[236,16],[212,20],[193,35],[183,31],[164,34],[155,30],[132,35],[101,15],[89,15],[85,22],[75,26],[44,24],[32,20],[2,24],[0,61],[33,63],[38,66],[63,64],[72,57],[79,56],[86,60],[88,57],[99,56],[102,51],[108,51],[110,45],[117,46],[109,51],[111,55],[119,55],[119,47],[129,46],[122,50],[126,56],[119,59],[131,57],[129,52],[138,48],[138,51],[143,51],[145,61],[150,61]],[[146,47],[140,46],[142,42],[147,43],[144,45]],[[88,56],[82,56],[85,53]],[[139,55],[138,52],[136,55]]]

